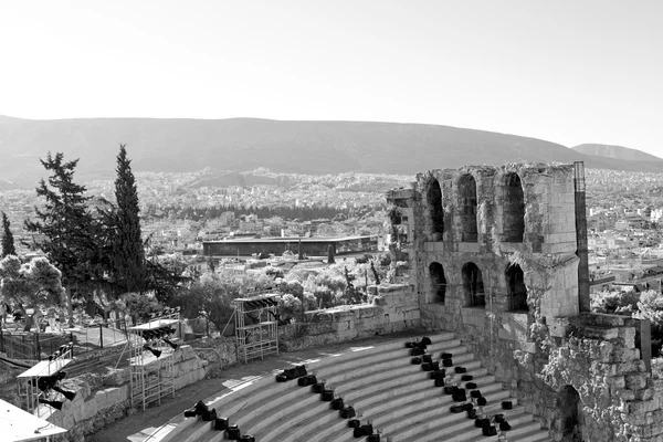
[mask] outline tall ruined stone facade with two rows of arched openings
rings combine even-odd
[[[579,296],[578,182],[570,165],[419,173],[387,193],[392,261],[422,325],[456,333],[555,440],[663,441],[642,324]]]

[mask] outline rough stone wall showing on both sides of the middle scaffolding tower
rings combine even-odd
[[[200,359],[190,345],[181,346],[173,355],[175,388],[179,390],[203,379],[209,362]],[[129,398],[129,368],[106,375],[82,375],[61,382],[65,390],[76,391],[73,401],[65,401],[61,411],[40,407],[40,415],[69,432],[56,441],[82,442],[110,423],[133,413]],[[137,404],[135,404],[137,407]]]

